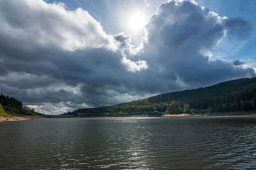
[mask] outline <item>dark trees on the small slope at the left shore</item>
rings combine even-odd
[[[2,115],[36,115],[33,109],[23,106],[21,101],[14,97],[0,95],[0,108],[2,108]]]

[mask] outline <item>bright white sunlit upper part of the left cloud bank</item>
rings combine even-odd
[[[63,50],[85,47],[117,50],[112,35],[87,11],[68,11],[63,4],[44,1],[1,1],[1,34],[9,35],[28,46],[54,45]],[[5,8],[5,9],[4,9]],[[4,36],[4,35],[2,35]]]

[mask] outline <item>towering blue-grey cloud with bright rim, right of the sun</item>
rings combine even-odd
[[[254,76],[252,68],[210,60],[209,54],[226,36],[226,25],[226,17],[194,1],[166,2],[146,25],[148,36],[141,58],[151,74],[161,75],[159,84],[169,84],[166,89],[171,89],[174,82],[193,87]]]

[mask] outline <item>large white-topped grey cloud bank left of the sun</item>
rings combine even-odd
[[[146,69],[145,61],[133,58],[129,35],[108,35],[87,11],[68,11],[64,4],[11,0],[0,6],[4,94],[44,113],[143,96],[127,94],[132,87],[124,85]]]

